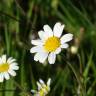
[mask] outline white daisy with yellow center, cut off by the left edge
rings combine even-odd
[[[0,82],[3,82],[4,79],[8,80],[11,76],[16,76],[15,70],[18,70],[19,66],[16,63],[16,59],[12,57],[7,59],[6,55],[0,57]]]

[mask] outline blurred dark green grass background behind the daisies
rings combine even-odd
[[[33,60],[31,40],[43,25],[56,22],[65,24],[63,33],[73,33],[74,40],[54,65],[44,66]],[[33,96],[30,90],[37,89],[38,79],[49,77],[48,96],[96,96],[96,0],[0,0],[2,54],[16,58],[20,69],[0,83],[0,96]]]

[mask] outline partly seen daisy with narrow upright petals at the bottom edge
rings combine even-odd
[[[48,79],[47,84],[45,84],[42,79],[39,79],[39,82],[37,82],[38,91],[31,90],[31,92],[34,93],[34,96],[46,96],[50,91],[50,83],[50,78]]]

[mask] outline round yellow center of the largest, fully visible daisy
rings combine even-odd
[[[60,46],[60,39],[58,37],[49,37],[44,44],[44,49],[47,52],[53,52]]]

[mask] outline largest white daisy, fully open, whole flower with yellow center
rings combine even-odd
[[[31,53],[36,53],[34,56],[35,61],[44,63],[48,57],[49,63],[54,64],[56,54],[59,54],[62,48],[68,48],[67,42],[73,39],[73,34],[68,33],[61,36],[64,26],[58,22],[52,30],[48,25],[44,25],[44,31],[38,32],[40,39],[32,40],[31,43],[35,46],[30,49]]]

